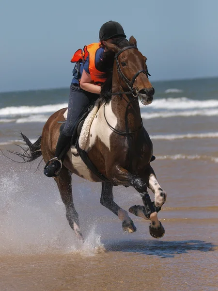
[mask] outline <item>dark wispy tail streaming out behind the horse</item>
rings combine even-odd
[[[8,151],[10,153],[15,154],[16,156],[22,158],[23,162],[32,162],[32,161],[36,160],[38,157],[40,157],[42,155],[42,151],[41,151],[42,135],[40,135],[40,137],[37,139],[37,141],[34,142],[33,144],[31,143],[29,138],[27,138],[26,135],[24,135],[22,132],[20,132],[20,135],[21,135],[22,141],[24,141],[24,144],[26,145],[26,148],[24,148],[23,146],[20,146],[20,145],[16,145],[22,149],[22,153],[12,151],[12,150],[8,150]],[[3,155],[5,157],[7,157],[4,153],[3,153]],[[13,162],[18,162],[18,161],[15,161],[9,157],[7,157],[7,158],[12,160]]]

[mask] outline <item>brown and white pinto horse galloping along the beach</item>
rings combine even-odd
[[[73,202],[72,173],[102,183],[100,203],[118,216],[126,232],[134,232],[136,227],[127,211],[113,201],[112,188],[117,185],[134,187],[140,193],[144,206],[135,205],[129,211],[136,216],[150,219],[150,234],[160,238],[164,235],[164,228],[157,219],[157,212],[166,201],[166,193],[158,184],[150,165],[153,145],[142,126],[138,98],[140,97],[143,105],[148,105],[154,95],[154,88],[148,80],[146,57],[137,49],[133,36],[129,42],[125,40],[119,46],[108,43],[107,49],[113,52],[113,70],[111,78],[108,78],[110,81],[106,81],[102,87],[103,97],[85,147],[89,159],[107,180],[103,181],[91,172],[73,147],[67,153],[60,175],[54,179],[66,207],[69,225],[79,240],[83,240],[83,237]],[[109,87],[112,87],[112,91],[107,94]],[[64,121],[65,111],[66,108],[61,109],[49,117],[42,135],[34,144],[22,135],[31,152],[27,162],[41,155],[45,162],[54,157],[60,132],[58,121]],[[155,194],[154,202],[150,199],[147,187]]]

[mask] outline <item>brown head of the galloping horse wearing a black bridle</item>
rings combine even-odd
[[[140,97],[143,105],[148,105],[153,100],[155,89],[148,80],[146,57],[137,49],[136,39],[131,36],[129,46],[123,49],[113,43],[104,42],[108,50],[116,53],[115,61],[120,83],[124,91],[131,91],[135,97]],[[115,69],[115,67],[114,67]]]

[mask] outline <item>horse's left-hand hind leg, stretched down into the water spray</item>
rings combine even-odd
[[[62,166],[61,173],[57,178],[55,178],[55,181],[58,185],[62,201],[66,207],[66,218],[69,225],[75,231],[78,239],[84,241],[79,228],[78,213],[74,207],[70,171]]]

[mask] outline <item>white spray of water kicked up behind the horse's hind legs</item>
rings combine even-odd
[[[52,182],[45,180],[45,186],[29,169],[19,173],[15,168],[7,168],[1,174],[0,255],[78,253],[93,256],[105,252],[92,220],[87,229],[83,229],[85,242],[78,242]]]

